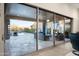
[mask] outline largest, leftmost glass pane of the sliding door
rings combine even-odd
[[[36,51],[36,8],[22,4],[6,5],[5,55],[24,55]]]

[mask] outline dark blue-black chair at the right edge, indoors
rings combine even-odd
[[[71,33],[69,35],[73,50],[72,53],[79,56],[79,33]]]

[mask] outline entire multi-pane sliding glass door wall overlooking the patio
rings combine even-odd
[[[71,19],[26,4],[5,7],[5,55],[24,55],[69,40]]]

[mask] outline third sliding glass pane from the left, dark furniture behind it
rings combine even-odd
[[[55,15],[54,25],[55,45],[58,45],[64,42],[64,17]]]

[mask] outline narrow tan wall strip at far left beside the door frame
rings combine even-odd
[[[4,55],[4,41],[2,35],[4,33],[4,4],[0,3],[0,56]]]

